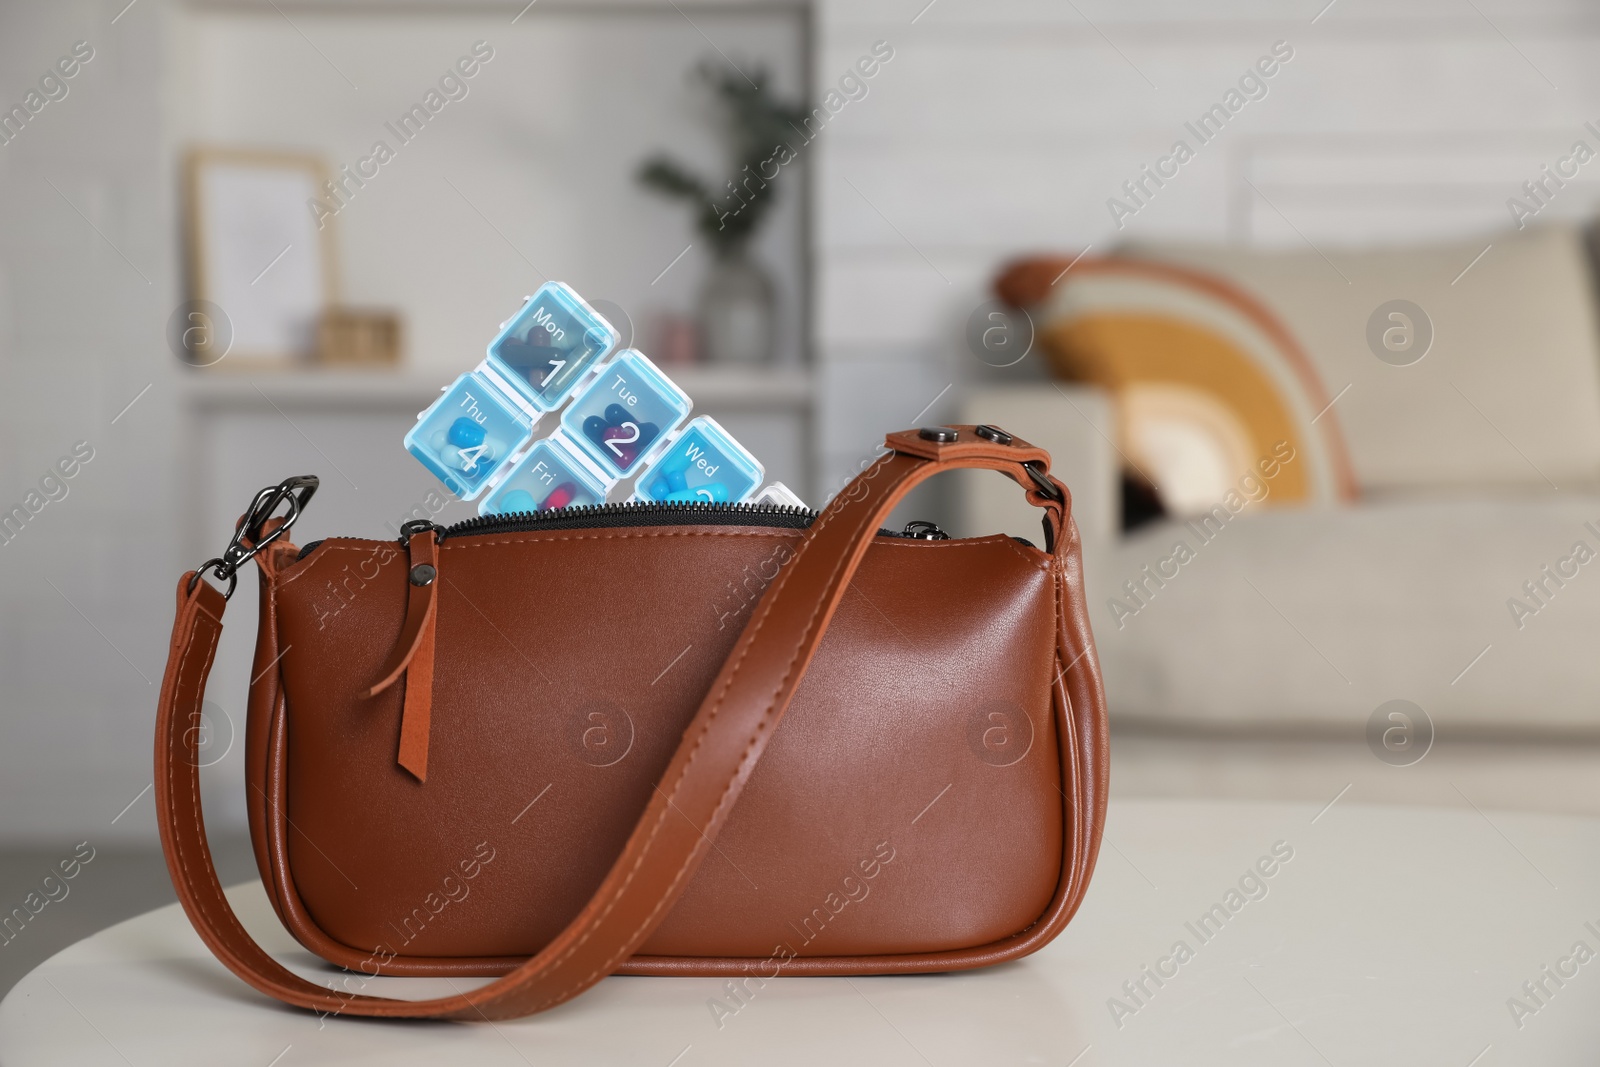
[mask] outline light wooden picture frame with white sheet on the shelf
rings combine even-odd
[[[310,202],[328,170],[312,154],[202,146],[184,158],[190,317],[205,325],[192,362],[235,370],[309,366],[339,299],[331,219]],[[186,350],[189,346],[184,346]]]

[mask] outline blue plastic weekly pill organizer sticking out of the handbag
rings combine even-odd
[[[482,496],[482,515],[605,504],[627,478],[635,502],[805,507],[782,482],[762,488],[760,461],[715,419],[690,419],[693,400],[643,352],[613,355],[619,339],[570,286],[539,286],[418,416],[406,451],[458,498]]]

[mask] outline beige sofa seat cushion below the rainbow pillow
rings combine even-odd
[[[1085,552],[1112,721],[1315,725],[1358,737],[1398,697],[1440,731],[1594,739],[1597,515],[1600,496],[1546,490],[1246,509],[1205,531],[1210,541],[1192,523],[1141,526]],[[1542,582],[1538,601],[1525,582]]]

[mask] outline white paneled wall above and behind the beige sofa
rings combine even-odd
[[[818,142],[829,486],[944,386],[925,421],[963,379],[1038,373],[962,341],[1010,258],[1493,232],[1542,163],[1600,149],[1600,10],[1578,0],[821,0],[818,21],[819,88],[894,48]],[[1184,123],[1278,40],[1266,96],[1200,144]],[[1178,138],[1195,157],[1118,229],[1107,198]],[[1600,162],[1539,219],[1589,216],[1597,189]]]

